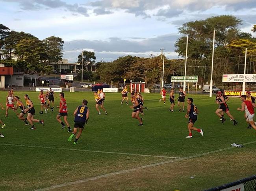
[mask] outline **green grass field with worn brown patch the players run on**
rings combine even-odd
[[[25,92],[15,94],[24,102]],[[144,126],[137,126],[138,121],[131,118],[132,110],[120,105],[120,93],[106,94],[108,115],[100,116],[93,93],[66,93],[71,126],[72,112],[82,99],[89,101],[90,108],[80,144],[73,145],[67,141],[67,128],[61,130],[56,121],[57,109],[40,115],[38,93],[28,94],[35,104],[35,118],[45,120],[45,126],[35,124],[37,129],[30,130],[13,111],[9,111],[8,118],[4,118],[5,111],[0,111],[7,125],[0,129],[5,135],[0,138],[1,191],[197,191],[256,173],[256,131],[245,128],[243,113],[236,110],[241,105],[239,98],[228,102],[238,121],[233,126],[229,120],[220,123],[215,115],[215,98],[189,95],[200,112],[195,127],[204,129],[204,136],[193,132],[193,138],[186,139],[185,113],[170,113],[169,101],[166,105],[160,103],[159,94],[144,94],[149,109],[143,116]],[[0,92],[2,104],[6,95]],[[247,144],[236,148],[230,146],[232,143]]]

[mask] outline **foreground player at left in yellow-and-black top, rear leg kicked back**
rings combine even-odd
[[[26,100],[26,104],[27,104],[28,108],[24,109],[23,111],[24,111],[24,113],[28,113],[27,119],[28,119],[28,122],[30,123],[30,125],[32,126],[30,129],[31,130],[35,129],[33,122],[38,122],[38,123],[41,123],[43,126],[45,126],[44,120],[34,119],[35,108],[33,106],[33,102],[30,100],[28,95],[25,94],[24,98]]]

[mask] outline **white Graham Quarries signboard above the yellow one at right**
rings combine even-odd
[[[224,74],[222,76],[222,82],[256,82],[256,74]]]

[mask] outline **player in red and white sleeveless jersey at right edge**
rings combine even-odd
[[[256,126],[255,126],[255,122],[253,120],[254,118],[254,106],[252,105],[252,102],[250,102],[249,100],[246,100],[246,95],[242,95],[241,96],[241,107],[238,107],[237,110],[238,111],[245,111],[245,115],[246,115],[246,122],[249,123],[252,128],[254,128],[256,130]]]

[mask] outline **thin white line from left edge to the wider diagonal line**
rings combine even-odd
[[[157,157],[157,158],[173,158],[173,159],[182,158],[182,157],[174,157],[174,156],[140,155],[140,154],[133,154],[133,153],[118,153],[118,152],[108,152],[108,151],[92,151],[92,150],[69,149],[69,148],[60,148],[60,147],[43,147],[43,146],[15,145],[15,144],[2,144],[2,143],[0,143],[0,145],[16,146],[16,147],[43,148],[43,149],[59,149],[59,150],[67,150],[67,151],[84,151],[84,152],[92,152],[92,153],[107,153],[107,154],[117,154],[117,155],[148,156],[148,157]]]

